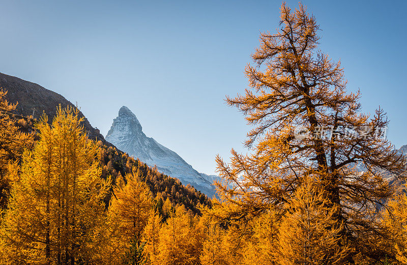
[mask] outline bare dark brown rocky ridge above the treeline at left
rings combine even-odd
[[[56,107],[61,104],[62,107],[74,105],[66,98],[53,91],[47,90],[41,85],[28,82],[20,78],[0,73],[0,89],[6,90],[6,98],[11,103],[18,102],[16,114],[21,116],[33,115],[36,119],[42,115],[43,111],[48,115],[48,120],[51,122],[55,116]],[[81,117],[84,117],[82,112],[79,112]],[[88,137],[94,140],[101,140],[108,144],[103,135],[98,129],[92,127],[86,117],[83,121],[83,126],[88,133]]]

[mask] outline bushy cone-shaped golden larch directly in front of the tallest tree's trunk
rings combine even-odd
[[[324,193],[312,182],[299,187],[287,204],[278,228],[275,258],[283,265],[344,264],[350,251],[339,245],[342,229]]]

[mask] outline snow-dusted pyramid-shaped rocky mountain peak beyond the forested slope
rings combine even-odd
[[[136,115],[125,106],[120,108],[119,116],[113,120],[106,140],[129,156],[138,158],[151,167],[156,165],[159,171],[180,179],[184,185],[191,184],[209,197],[215,194],[212,184],[217,176],[199,173],[177,153],[147,137]]]

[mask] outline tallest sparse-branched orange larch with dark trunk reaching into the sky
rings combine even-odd
[[[304,179],[313,179],[326,207],[336,209],[338,244],[352,250],[346,260],[354,263],[357,254],[380,259],[386,253],[372,253],[365,239],[386,237],[377,221],[393,193],[385,174],[397,179],[404,159],[383,137],[384,111],[364,114],[359,92],[346,92],[340,62],[318,50],[318,30],[301,3],[294,11],[283,3],[277,32],[260,34],[254,65],[245,70],[249,88],[226,99],[253,126],[245,142],[252,152],[232,150],[230,164],[217,157],[218,190],[223,201],[238,205],[228,219],[249,220],[270,205],[284,209]]]

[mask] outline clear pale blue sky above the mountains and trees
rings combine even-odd
[[[292,8],[297,1],[288,1]],[[341,59],[362,106],[383,107],[388,138],[407,144],[406,1],[304,1]],[[1,1],[0,72],[38,83],[81,107],[103,135],[123,105],[144,133],[200,172],[214,173],[249,127],[224,104],[247,87],[260,31],[274,32],[280,1]]]

